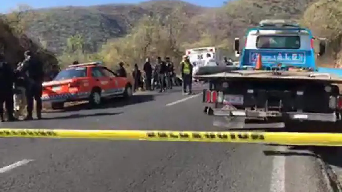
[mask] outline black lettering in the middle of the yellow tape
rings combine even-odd
[[[225,140],[234,140],[234,139],[252,139],[252,140],[265,140],[263,134],[259,133],[251,133],[251,134],[240,134],[240,133],[183,133],[183,132],[148,132],[147,137],[149,138],[171,138],[171,139],[225,139]]]

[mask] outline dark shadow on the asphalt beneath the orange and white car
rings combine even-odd
[[[108,108],[116,108],[116,107],[124,107],[134,104],[139,104],[143,102],[153,101],[154,95],[133,95],[131,98],[113,98],[103,101],[103,105],[97,107],[96,109],[108,109]],[[47,113],[53,113],[53,112],[70,112],[70,111],[80,111],[80,110],[86,110],[86,109],[94,109],[92,108],[88,102],[78,104],[78,105],[72,105],[67,106],[62,110],[53,110],[48,111]]]

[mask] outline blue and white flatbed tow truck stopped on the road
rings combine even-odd
[[[244,38],[242,49],[240,39],[234,41],[239,66],[195,75],[210,82],[203,103],[206,114],[220,118],[214,126],[286,129],[293,122],[341,121],[342,70],[316,65],[326,39],[291,20],[262,20]]]

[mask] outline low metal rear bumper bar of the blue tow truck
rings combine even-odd
[[[337,122],[337,114],[333,113],[307,113],[307,112],[277,112],[277,111],[251,111],[251,110],[222,110],[212,109],[212,115],[225,117],[249,118],[279,118],[282,120],[301,120],[301,121],[324,121]],[[209,110],[209,108],[207,109]]]

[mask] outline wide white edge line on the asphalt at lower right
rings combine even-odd
[[[276,151],[287,151],[285,146],[278,146]],[[270,192],[285,192],[285,156],[273,157],[273,170],[271,176]]]

